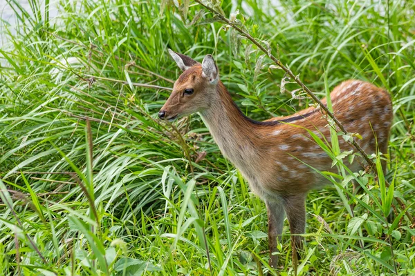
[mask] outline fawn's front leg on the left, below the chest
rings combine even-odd
[[[273,255],[277,252],[277,239],[281,241],[282,226],[284,224],[284,208],[282,201],[266,201],[266,208],[268,210],[268,244],[270,248],[271,268],[277,268],[278,255]]]

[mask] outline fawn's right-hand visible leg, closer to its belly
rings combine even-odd
[[[291,247],[293,248],[293,268],[297,274],[297,263],[300,259],[299,251],[303,248],[303,237],[306,230],[306,195],[293,195],[284,198],[284,210],[287,215],[291,231]]]

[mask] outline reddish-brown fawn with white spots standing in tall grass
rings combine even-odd
[[[302,248],[306,226],[306,194],[324,186],[325,179],[313,170],[337,172],[332,159],[307,130],[330,142],[330,130],[318,108],[307,108],[288,117],[252,120],[239,110],[219,80],[212,55],[202,63],[169,50],[183,73],[174,83],[172,95],[158,112],[160,119],[173,121],[199,112],[221,152],[248,180],[253,193],[268,210],[270,266],[277,267],[277,239],[282,235],[284,214],[291,230],[293,260]],[[371,83],[344,81],[331,92],[333,113],[348,132],[358,132],[358,144],[367,153],[387,152],[392,110],[389,94]],[[322,100],[326,103],[326,99]],[[351,146],[340,139],[341,150]],[[348,165],[356,172],[360,162]]]

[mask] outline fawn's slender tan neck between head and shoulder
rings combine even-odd
[[[223,155],[243,170],[246,162],[252,164],[258,156],[255,124],[239,110],[221,81],[216,86],[216,96],[201,117]]]

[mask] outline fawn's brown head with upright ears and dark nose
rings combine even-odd
[[[210,108],[212,99],[219,97],[216,92],[219,71],[212,55],[206,55],[201,64],[170,49],[169,53],[183,73],[174,83],[172,95],[158,112],[158,117],[173,121]]]

